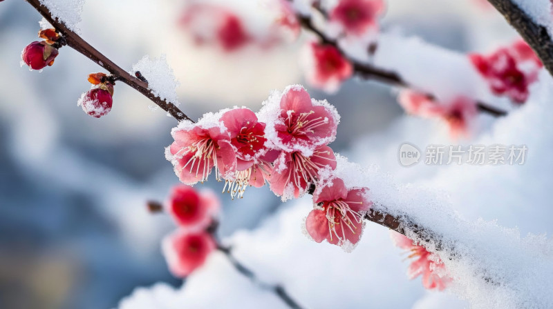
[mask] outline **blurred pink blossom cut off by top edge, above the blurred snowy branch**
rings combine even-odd
[[[338,23],[348,34],[360,35],[377,28],[377,18],[382,12],[382,0],[339,0],[330,12],[330,22]]]

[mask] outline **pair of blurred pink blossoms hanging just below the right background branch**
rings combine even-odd
[[[453,138],[469,134],[476,119],[476,103],[466,97],[457,97],[448,103],[439,103],[427,94],[403,90],[397,98],[400,105],[416,116],[442,119],[449,126]]]

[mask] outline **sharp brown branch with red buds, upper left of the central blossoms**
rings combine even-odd
[[[148,89],[148,83],[140,80],[137,77],[133,77],[131,74],[120,68],[117,64],[113,63],[108,57],[104,56],[101,52],[97,51],[93,46],[84,41],[78,34],[68,29],[63,21],[52,17],[50,10],[46,6],[42,5],[39,0],[26,0],[35,10],[37,10],[54,28],[62,34],[67,46],[77,50],[88,59],[91,59],[98,66],[101,66],[108,72],[110,72],[115,79],[126,83],[138,92],[144,94],[153,103],[156,103],[160,108],[171,114],[172,117],[178,121],[189,120],[193,121],[184,112],[180,111],[173,103],[156,97],[151,90]],[[193,121],[194,122],[194,121]]]

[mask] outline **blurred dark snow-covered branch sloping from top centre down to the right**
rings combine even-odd
[[[376,68],[375,66],[361,63],[359,61],[356,61],[355,59],[351,59],[350,57],[348,57],[344,50],[341,50],[341,48],[338,46],[337,41],[335,41],[334,39],[330,39],[326,36],[326,34],[315,27],[310,17],[297,14],[297,19],[304,29],[317,35],[321,43],[334,46],[344,58],[348,59],[348,61],[353,65],[353,70],[355,71],[355,74],[357,74],[357,76],[362,77],[363,79],[373,79],[382,83],[387,83],[392,86],[409,88],[409,84],[406,83],[406,81],[404,81],[402,77],[400,77],[400,75],[396,72],[382,70],[380,68]],[[433,96],[431,95],[431,97]],[[480,101],[476,102],[476,107],[480,112],[491,114],[494,117],[501,117],[507,114],[505,110],[500,110],[499,108],[495,108],[494,106],[490,106],[489,104]]]

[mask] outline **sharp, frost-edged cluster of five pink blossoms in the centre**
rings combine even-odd
[[[171,132],[175,141],[166,156],[183,183],[205,181],[214,170],[217,180],[225,180],[223,192],[233,198],[242,197],[247,186],[265,183],[283,201],[315,187],[309,235],[352,248],[371,201],[368,188],[346,188],[341,179],[321,183],[321,172],[337,165],[328,143],[338,123],[330,104],[311,99],[302,86],[289,86],[274,92],[257,114],[233,108],[205,114],[197,123],[183,121]]]

